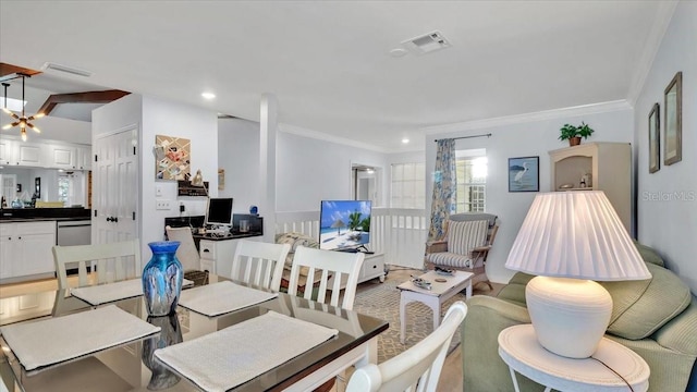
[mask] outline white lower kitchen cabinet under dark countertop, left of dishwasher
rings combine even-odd
[[[52,277],[56,221],[0,223],[0,281]]]

